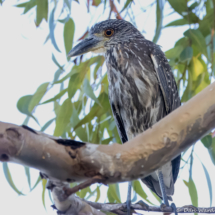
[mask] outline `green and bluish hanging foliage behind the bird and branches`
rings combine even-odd
[[[43,21],[48,23],[49,34],[44,38],[44,43],[49,40],[51,41],[55,49],[52,54],[52,60],[58,67],[53,81],[42,83],[33,95],[21,97],[17,102],[17,108],[21,113],[26,115],[25,125],[28,124],[31,118],[39,124],[40,119],[34,116],[36,108],[39,105],[52,103],[55,117],[47,121],[43,126],[40,126],[41,131],[45,132],[54,123],[55,129],[53,135],[55,136],[96,144],[121,143],[108,101],[108,80],[104,65],[104,56],[97,55],[90,57],[90,55],[86,55],[75,59],[67,58],[67,53],[73,47],[73,43],[77,42],[74,41],[74,34],[78,26],[76,26],[71,16],[71,5],[73,2],[78,4],[79,1],[81,0],[29,0],[24,3],[17,1],[16,7],[23,9],[24,16],[29,11],[34,11],[33,19],[36,26],[39,27]],[[132,22],[138,29],[141,28],[141,26],[136,25],[135,15],[133,14],[133,7],[136,4],[135,0],[84,1],[88,12],[92,7],[102,7],[104,12],[108,11],[109,15],[105,17],[106,19],[126,19]],[[0,3],[4,7],[4,0],[0,0]],[[179,26],[188,26],[188,30],[184,32],[184,36],[175,43],[174,47],[165,53],[175,75],[183,104],[214,81],[215,0],[155,0],[148,8],[154,4],[156,4],[156,29],[153,42],[156,43],[158,41],[164,28],[168,28],[169,26],[176,28]],[[177,13],[181,18],[164,26],[163,11],[166,4],[172,7],[171,13]],[[145,8],[145,10],[148,8]],[[56,17],[55,12],[57,10],[61,12]],[[144,13],[144,9],[142,13]],[[64,50],[59,49],[58,41],[55,38],[55,28],[57,25],[64,26],[62,32]],[[79,40],[87,37],[88,30],[86,29],[83,32]],[[58,62],[55,53],[57,55],[64,55],[64,63],[60,64]],[[43,101],[43,96],[56,86],[60,86],[58,94]],[[215,165],[215,133],[208,134],[201,142],[208,149],[209,156]],[[194,146],[187,160],[182,156],[181,168],[184,168],[185,165],[189,166],[189,180],[184,180],[184,184],[189,189],[193,205],[198,206],[197,189],[192,178],[193,151]],[[213,197],[212,183],[207,168],[203,164],[202,167],[207,179],[211,204]],[[19,195],[23,195],[15,186],[6,163],[3,164],[3,169],[10,186]],[[25,172],[30,191],[39,183],[42,183],[42,199],[45,206],[46,181],[38,177],[36,183],[32,185],[28,167],[25,167]],[[75,185],[75,183],[71,184],[71,186]],[[76,194],[86,199],[95,197],[94,201],[98,201],[101,195],[100,185],[96,189],[92,189],[91,187],[85,188]],[[141,183],[134,181],[132,201],[136,201],[137,195],[145,199],[149,204],[159,204],[158,202],[152,203],[143,190]],[[156,195],[154,196],[156,197]],[[109,202],[121,202],[118,184],[109,185],[107,198]],[[160,202],[157,197],[156,199]]]

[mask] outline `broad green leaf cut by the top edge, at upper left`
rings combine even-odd
[[[36,26],[39,26],[43,18],[48,20],[48,0],[36,0],[37,4],[37,15],[36,15]]]

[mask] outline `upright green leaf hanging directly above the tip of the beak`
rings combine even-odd
[[[68,20],[68,22],[66,22],[66,24],[64,25],[64,32],[63,32],[66,55],[72,49],[74,32],[75,32],[75,23],[70,18]],[[68,58],[68,59],[70,59],[70,58]]]

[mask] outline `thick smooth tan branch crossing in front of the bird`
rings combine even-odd
[[[64,140],[26,126],[0,123],[0,160],[39,169],[67,182],[143,178],[215,127],[215,83],[124,145]]]

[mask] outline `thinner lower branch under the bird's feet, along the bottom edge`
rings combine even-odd
[[[64,215],[104,215],[103,212],[111,212],[118,215],[127,215],[127,205],[126,203],[121,204],[111,204],[111,203],[98,203],[83,200],[77,196],[69,195],[65,197],[65,190],[69,189],[68,183],[57,183],[53,184],[49,181],[49,189],[52,191],[52,196],[55,201],[55,208],[58,214]],[[141,202],[131,204],[131,209],[141,211],[151,211],[151,212],[161,212],[161,213],[172,213],[171,207],[156,207],[156,206],[146,206],[141,204]],[[99,210],[99,211],[98,211]],[[194,207],[193,205],[186,205],[183,207],[178,207],[177,213],[215,213],[215,207],[210,208],[200,208]]]

